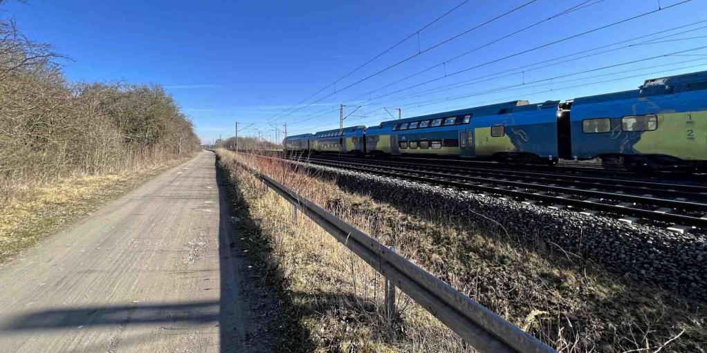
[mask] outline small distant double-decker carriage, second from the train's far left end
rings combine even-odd
[[[363,134],[366,126],[349,126],[319,131],[310,136],[312,152],[363,154]]]

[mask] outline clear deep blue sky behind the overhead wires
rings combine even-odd
[[[264,136],[268,137],[272,135],[269,122],[277,124],[280,128],[287,122],[290,134],[334,128],[339,124],[340,103],[352,106],[345,108],[345,114],[349,114],[355,106],[363,105],[349,116],[347,124],[373,125],[390,119],[382,107],[402,107],[405,117],[516,99],[531,102],[568,100],[582,95],[633,89],[643,83],[645,78],[707,70],[707,56],[696,55],[707,54],[707,49],[701,49],[685,52],[682,56],[665,56],[576,74],[579,71],[706,46],[707,37],[704,36],[707,36],[707,28],[701,27],[707,26],[707,23],[701,23],[643,39],[645,41],[674,35],[658,40],[661,42],[658,44],[634,45],[525,73],[516,71],[514,75],[483,83],[428,92],[432,88],[448,87],[453,83],[564,54],[707,20],[707,0],[693,0],[590,35],[369,101],[378,95],[433,78],[441,78],[445,72],[449,74],[477,66],[569,35],[653,11],[659,4],[666,7],[681,2],[537,0],[508,16],[415,56],[404,64],[339,91],[381,68],[527,1],[467,1],[456,11],[421,31],[419,40],[418,36],[414,36],[336,85],[322,90],[308,102],[336,92],[331,97],[323,98],[320,102],[303,107],[281,119],[276,117],[288,107],[327,87],[345,73],[462,3],[462,0],[29,0],[27,4],[9,2],[4,6],[6,13],[2,16],[14,18],[18,28],[31,39],[52,44],[56,52],[69,56],[71,60],[62,61],[62,64],[70,80],[122,80],[129,83],[164,85],[185,113],[192,118],[202,140],[218,138],[219,134],[224,137],[233,135],[235,121],[239,121],[241,126],[255,124],[253,128],[260,128]],[[548,20],[477,52],[448,61],[462,52],[583,3],[589,6],[580,6],[575,11]],[[687,30],[689,32],[685,32]],[[634,40],[622,45],[638,42],[640,41]],[[620,46],[607,49],[616,47]],[[577,56],[572,56],[574,57]],[[443,61],[448,62],[368,94],[383,85]],[[559,78],[570,74],[571,76]],[[614,80],[627,76],[636,77]],[[546,78],[554,78],[552,82],[542,82],[551,85],[533,84]],[[602,80],[612,81],[590,84]],[[527,83],[525,87],[478,94],[484,90],[524,82]],[[576,85],[583,86],[566,88]],[[412,96],[414,92],[419,92],[419,95]],[[469,97],[448,100],[462,95]],[[353,100],[358,96],[363,97]],[[431,102],[432,100],[439,102]],[[241,134],[252,135],[257,134],[257,131],[248,129]]]

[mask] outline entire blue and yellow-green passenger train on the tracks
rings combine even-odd
[[[288,136],[288,152],[439,155],[500,162],[600,158],[604,166],[707,169],[707,71],[638,90],[530,104],[516,100],[378,126]]]

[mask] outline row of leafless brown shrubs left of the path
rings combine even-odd
[[[59,57],[0,18],[0,195],[198,148],[191,122],[160,86],[68,83]]]

